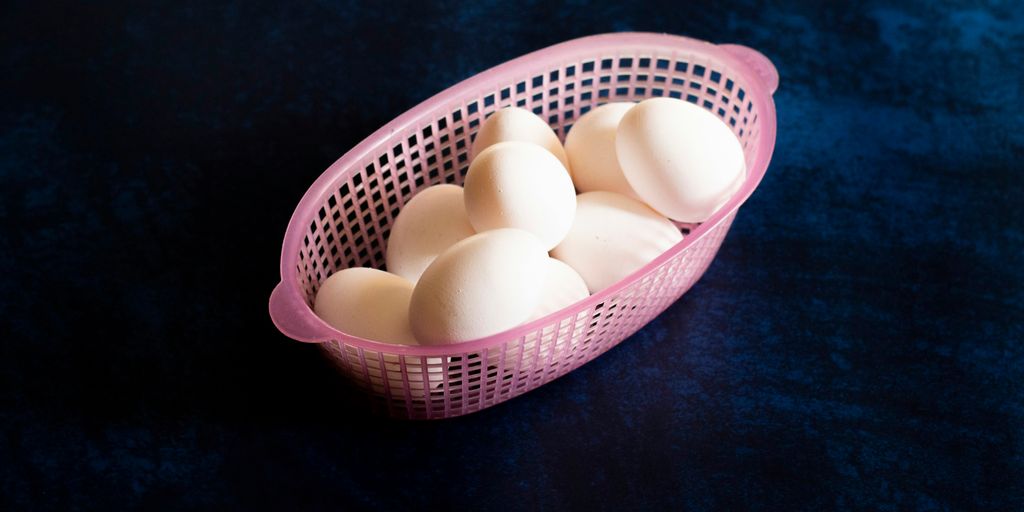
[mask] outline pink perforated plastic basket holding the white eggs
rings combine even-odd
[[[605,34],[521,56],[402,114],[335,162],[299,202],[285,233],[270,316],[282,333],[319,343],[373,402],[400,418],[460,416],[565,375],[635,333],[703,274],[775,143],[778,74],[761,53],[664,34]],[[446,346],[401,346],[339,332],[310,308],[319,284],[350,266],[384,267],[391,222],[417,190],[462,184],[486,116],[532,110],[564,138],[608,101],[672,96],[702,105],[742,143],[748,177],[707,222],[614,286],[517,329]]]

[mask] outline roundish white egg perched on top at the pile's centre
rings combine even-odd
[[[525,229],[545,250],[558,245],[575,213],[575,190],[550,153],[527,142],[499,142],[476,156],[465,182],[466,212],[477,232]]]

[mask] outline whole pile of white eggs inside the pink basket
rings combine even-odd
[[[388,271],[335,272],[314,310],[389,343],[498,334],[650,262],[682,240],[673,220],[706,220],[744,177],[728,127],[679,99],[598,106],[564,146],[532,113],[500,110],[473,141],[464,186],[427,187],[399,212]]]

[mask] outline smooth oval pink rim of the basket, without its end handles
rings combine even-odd
[[[641,44],[649,46],[664,46],[669,48],[680,44],[700,46],[702,47],[702,50],[713,54],[716,58],[727,61],[729,66],[740,73],[749,83],[764,85],[762,84],[762,80],[756,70],[748,65],[743,59],[718,44],[685,36],[652,32],[617,32],[584,36],[547,46],[488,68],[441,90],[440,92],[417,103],[412,109],[403,112],[401,115],[386,123],[381,128],[375,130],[351,150],[345,152],[345,154],[343,154],[338,160],[325,169],[323,173],[321,173],[321,175],[313,181],[313,183],[308,189],[306,189],[305,194],[303,194],[302,198],[299,200],[299,203],[289,219],[288,227],[286,228],[279,266],[280,283],[278,286],[284,287],[282,292],[294,296],[301,295],[298,290],[297,283],[295,283],[294,280],[286,279],[288,266],[290,265],[288,255],[294,254],[298,250],[298,246],[301,245],[300,243],[302,237],[304,236],[304,226],[300,224],[304,222],[303,219],[311,218],[311,216],[315,214],[316,208],[319,206],[319,203],[314,201],[314,199],[319,198],[328,191],[330,185],[337,178],[337,174],[340,172],[340,169],[351,167],[361,160],[365,160],[373,147],[380,145],[382,142],[390,138],[395,132],[407,130],[416,120],[435,110],[440,103],[450,102],[447,100],[471,93],[474,89],[480,88],[490,82],[498,81],[499,77],[519,75],[525,71],[526,68],[536,68],[537,60],[545,59],[561,53],[569,53],[582,48],[587,48],[589,50],[605,48],[613,49],[616,45],[621,44]],[[595,47],[595,45],[597,47]],[[693,48],[689,49],[692,50]],[[433,346],[399,345],[352,336],[339,331],[331,327],[323,319],[315,317],[312,310],[307,307],[306,309],[308,310],[302,312],[304,314],[314,316],[315,318],[311,319],[321,325],[325,333],[325,339],[310,342],[344,342],[345,344],[353,345],[364,350],[409,356],[456,356],[479,351],[482,348],[497,346],[503,342],[513,340],[534,332],[540,333],[541,330],[545,326],[548,326],[552,321],[557,317],[564,316],[567,310],[583,310],[603,302],[608,297],[617,293],[622,289],[633,285],[636,281],[642,279],[643,275],[699,242],[708,232],[712,231],[725,219],[732,216],[739,206],[741,206],[750,198],[754,189],[760,184],[770,163],[775,145],[775,104],[772,99],[772,94],[767,92],[767,86],[748,90],[746,93],[754,96],[752,99],[756,99],[759,103],[767,108],[761,115],[767,115],[765,120],[770,121],[764,124],[761,137],[759,138],[758,147],[756,148],[758,158],[755,159],[755,161],[758,162],[759,165],[756,165],[754,169],[749,170],[750,172],[748,174],[746,181],[743,183],[739,193],[734,195],[709,220],[700,223],[700,225],[693,229],[688,236],[684,237],[682,241],[663,252],[657,258],[654,258],[644,266],[620,280],[614,285],[605,288],[604,290],[601,290],[600,292],[595,293],[582,301],[566,306],[565,308],[553,311],[548,315],[536,318],[513,329],[475,340]],[[305,300],[301,299],[301,297],[299,297],[299,302],[305,304]],[[283,332],[283,334],[286,334],[287,336],[287,333]]]

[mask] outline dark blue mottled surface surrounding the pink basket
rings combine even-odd
[[[82,4],[0,15],[0,508],[1024,507],[1018,2]],[[627,30],[778,68],[718,259],[525,396],[360,412],[266,313],[302,193],[442,88]]]

